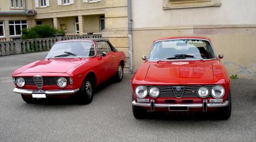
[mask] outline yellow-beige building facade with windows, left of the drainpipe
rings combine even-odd
[[[67,36],[102,34],[128,56],[126,0],[0,0],[0,41],[36,24],[63,29]],[[129,63],[127,64],[129,66]],[[125,68],[126,70],[126,68]]]

